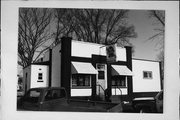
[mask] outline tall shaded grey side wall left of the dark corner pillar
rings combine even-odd
[[[61,44],[52,50],[52,87],[60,87],[61,80]]]

